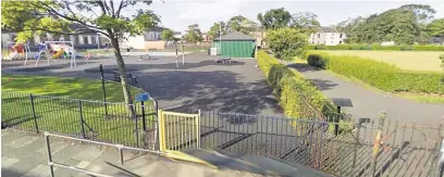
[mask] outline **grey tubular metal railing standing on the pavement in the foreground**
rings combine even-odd
[[[121,162],[122,165],[124,163],[124,161],[123,161],[123,150],[125,150],[125,149],[126,150],[148,152],[148,153],[153,153],[153,154],[161,154],[162,153],[160,151],[152,151],[152,150],[146,150],[146,149],[125,147],[123,144],[112,144],[112,143],[106,143],[106,142],[91,141],[91,140],[79,139],[79,138],[74,138],[74,137],[69,137],[69,136],[57,135],[57,134],[50,134],[50,132],[45,131],[45,139],[46,139],[46,146],[47,146],[47,151],[48,151],[48,166],[49,166],[51,177],[54,177],[54,166],[55,167],[62,167],[62,168],[69,168],[69,169],[72,169],[72,170],[77,170],[77,172],[85,173],[87,175],[92,175],[92,176],[99,176],[99,177],[112,177],[112,176],[104,175],[104,174],[99,174],[99,173],[90,172],[90,170],[87,170],[87,169],[84,169],[84,168],[78,168],[78,167],[75,167],[75,166],[70,166],[70,165],[64,165],[64,164],[61,164],[61,163],[53,162],[52,152],[51,152],[50,137],[57,137],[57,138],[82,141],[82,142],[88,142],[88,143],[95,143],[95,144],[99,144],[99,146],[114,147],[114,148],[119,149],[119,157],[120,157],[120,162]]]

